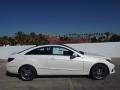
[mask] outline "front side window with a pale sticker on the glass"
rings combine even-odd
[[[53,55],[64,55],[64,56],[71,56],[73,52],[63,47],[53,47],[52,49]]]

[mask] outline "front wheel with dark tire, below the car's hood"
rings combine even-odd
[[[90,71],[90,77],[95,80],[102,80],[109,74],[108,67],[104,64],[96,64]]]

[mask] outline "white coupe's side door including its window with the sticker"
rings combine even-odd
[[[68,48],[53,46],[52,55],[48,61],[48,67],[53,74],[82,74],[83,73],[83,59],[78,56],[70,58],[73,51]]]

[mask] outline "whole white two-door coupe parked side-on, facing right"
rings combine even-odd
[[[35,46],[8,58],[9,73],[24,81],[37,75],[89,75],[101,80],[115,73],[111,58],[86,55],[66,45]]]

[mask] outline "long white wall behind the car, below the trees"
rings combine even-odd
[[[84,52],[95,53],[107,57],[120,57],[120,42],[82,43],[67,45]],[[7,59],[10,56],[10,54],[22,51],[29,47],[32,47],[32,45],[0,47],[0,59]]]

